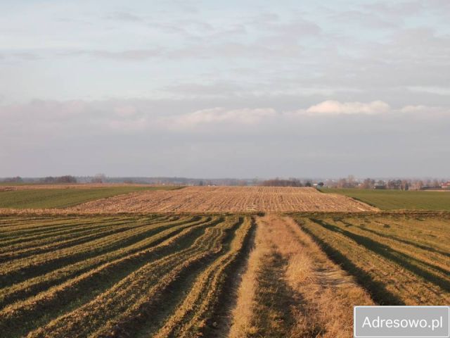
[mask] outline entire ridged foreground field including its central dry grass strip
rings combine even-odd
[[[352,337],[450,301],[450,214],[1,215],[4,337]]]

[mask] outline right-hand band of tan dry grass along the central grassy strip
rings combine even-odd
[[[291,236],[277,238],[290,256],[286,277],[302,297],[292,337],[352,337],[353,306],[373,301],[291,218],[284,220]]]

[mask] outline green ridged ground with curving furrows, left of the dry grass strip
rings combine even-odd
[[[253,228],[239,215],[1,216],[0,330],[211,337]]]

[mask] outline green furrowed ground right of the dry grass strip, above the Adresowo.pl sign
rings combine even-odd
[[[294,217],[377,303],[450,303],[449,215]]]

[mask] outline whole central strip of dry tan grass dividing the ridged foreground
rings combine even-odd
[[[257,218],[230,337],[352,337],[354,305],[373,304],[292,218]]]

